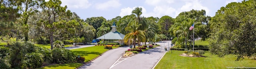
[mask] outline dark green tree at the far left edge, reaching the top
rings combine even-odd
[[[16,30],[16,20],[20,17],[20,0],[0,0],[0,39],[9,39],[13,36],[12,31]],[[6,41],[7,42],[7,41]]]

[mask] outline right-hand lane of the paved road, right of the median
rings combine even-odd
[[[168,47],[168,42],[157,44],[165,44],[165,46]],[[152,69],[165,52],[164,47],[159,46],[146,52],[136,54],[125,61],[122,61],[111,69]]]

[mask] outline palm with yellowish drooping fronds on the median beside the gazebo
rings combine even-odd
[[[130,31],[130,33],[124,36],[124,42],[126,44],[130,44],[130,41],[132,41],[135,48],[136,40],[138,41],[138,43],[144,42],[146,40],[146,36],[144,35],[145,32],[138,29],[140,26],[141,24],[137,24],[135,22],[128,24],[128,27],[126,27],[125,30]]]

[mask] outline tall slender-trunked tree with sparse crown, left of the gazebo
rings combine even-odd
[[[56,20],[61,17],[70,16],[72,13],[68,10],[66,11],[67,6],[62,7],[60,6],[62,2],[60,0],[49,0],[48,2],[44,2],[42,8],[44,8],[42,11],[47,13],[46,18],[47,20],[41,20],[44,25],[44,28],[49,30],[49,38],[50,38],[50,44],[51,49],[53,48],[53,42],[54,42],[54,32],[58,28],[63,28],[65,26],[64,23],[66,21],[59,21]],[[74,23],[74,21],[71,21],[70,23]],[[75,24],[76,25],[76,24]],[[72,29],[68,29],[72,30]]]

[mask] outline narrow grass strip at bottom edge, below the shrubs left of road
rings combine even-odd
[[[65,63],[65,64],[56,64],[56,65],[49,65],[46,67],[38,68],[38,69],[76,69],[83,65],[82,63]]]

